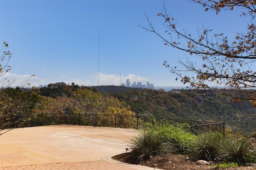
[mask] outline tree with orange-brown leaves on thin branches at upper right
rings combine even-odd
[[[158,16],[164,19],[165,34],[160,34],[152,25],[148,16],[149,26],[140,26],[147,31],[155,33],[168,45],[179,49],[189,55],[200,57],[202,66],[196,65],[186,57],[186,61],[179,60],[179,66],[170,66],[167,61],[163,65],[176,74],[176,81],[189,84],[196,88],[210,88],[232,96],[234,102],[249,100],[256,106],[256,70],[252,66],[256,61],[256,26],[253,21],[256,14],[256,1],[254,0],[192,0],[201,4],[205,11],[233,10],[242,8],[241,16],[250,17],[252,23],[247,25],[248,32],[236,33],[229,39],[223,33],[212,33],[212,29],[198,30],[199,36],[194,36],[178,28],[175,19],[168,14],[166,6]],[[166,36],[168,35],[168,36]],[[178,36],[177,40],[175,36]],[[184,40],[184,41],[183,41]],[[194,72],[196,76],[188,76],[187,72]],[[224,86],[224,88],[219,88]],[[250,90],[246,90],[250,89]]]

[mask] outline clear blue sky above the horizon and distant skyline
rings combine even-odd
[[[177,27],[196,35],[197,28],[213,29],[234,37],[245,31],[250,18],[241,10],[204,12],[186,0],[165,1]],[[165,46],[159,37],[138,27],[147,26],[145,13],[164,34],[164,22],[157,14],[163,1],[87,0],[0,0],[0,42],[13,53],[6,75],[18,86],[29,75],[33,86],[52,82],[79,85],[98,84],[98,28],[100,29],[100,85],[146,81],[155,86],[182,86],[175,75],[162,66],[176,64],[185,54]],[[231,38],[232,39],[232,38]],[[200,60],[192,58],[196,63]]]

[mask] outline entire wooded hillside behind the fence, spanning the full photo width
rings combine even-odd
[[[233,132],[256,131],[256,108],[251,102],[234,103],[232,97],[212,90],[135,89],[100,93],[86,86],[61,88],[5,88],[1,108],[13,117],[48,113],[137,114],[203,121],[225,121]],[[134,96],[138,96],[138,99]],[[15,119],[12,119],[14,122]],[[17,119],[18,120],[18,119]],[[4,125],[4,124],[2,124]]]

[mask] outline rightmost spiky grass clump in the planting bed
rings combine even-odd
[[[237,162],[240,165],[256,162],[256,150],[245,139],[228,137],[218,145],[218,154],[226,162]]]

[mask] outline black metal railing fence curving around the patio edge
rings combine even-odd
[[[198,121],[192,119],[173,119],[166,117],[150,117],[145,115],[118,115],[118,114],[82,114],[82,113],[52,113],[26,115],[13,124],[12,127],[32,127],[44,125],[84,125],[99,127],[122,127],[138,129],[152,125],[174,125],[182,127],[191,133],[220,132],[224,135],[224,122]]]

